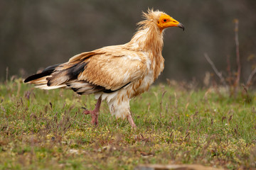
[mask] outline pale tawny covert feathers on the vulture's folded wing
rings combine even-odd
[[[93,55],[86,60],[86,68],[78,75],[78,80],[116,91],[144,77],[146,64],[143,55],[136,52],[125,53],[106,52]]]

